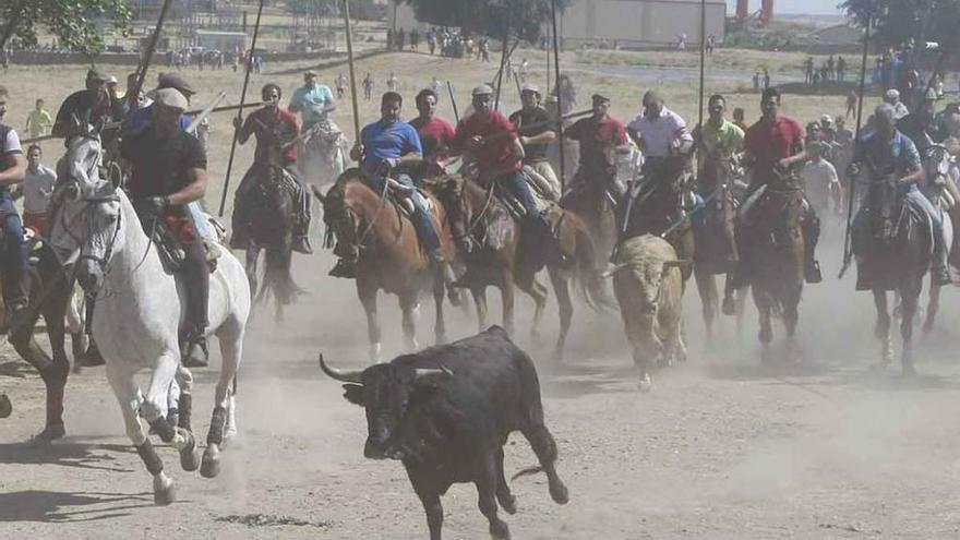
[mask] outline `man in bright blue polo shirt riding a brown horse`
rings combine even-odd
[[[397,195],[411,203],[411,220],[420,244],[432,263],[442,264],[440,237],[427,211],[425,201],[413,187],[413,179],[407,173],[392,175],[399,166],[419,164],[423,155],[417,130],[400,120],[403,104],[404,98],[395,92],[383,95],[380,106],[382,118],[363,128],[360,132],[361,143],[350,151],[350,158],[360,161],[360,168],[374,191],[383,193],[385,183],[389,183]],[[391,175],[395,178],[388,178]],[[329,275],[356,277],[356,257],[357,254],[353,253],[340,259]]]

